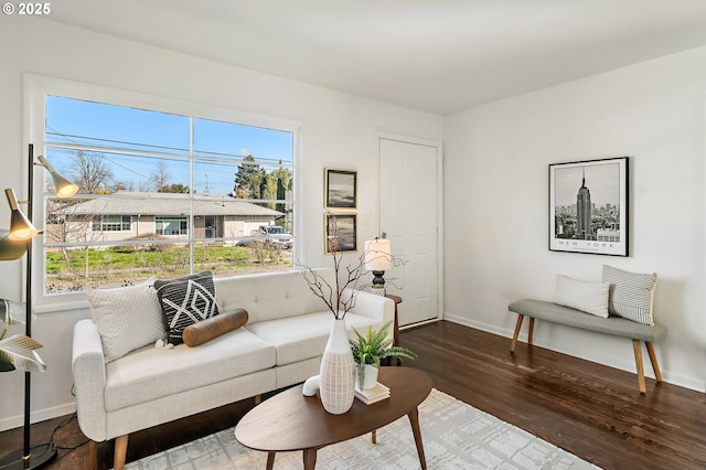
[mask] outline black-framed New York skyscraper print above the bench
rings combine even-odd
[[[549,249],[628,256],[628,157],[549,164]]]

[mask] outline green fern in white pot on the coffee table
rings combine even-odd
[[[386,338],[391,322],[387,322],[378,331],[367,328],[367,333],[362,335],[353,329],[356,340],[349,340],[355,368],[357,372],[357,386],[360,389],[373,388],[377,383],[377,372],[381,360],[385,357],[415,359],[417,354],[403,346],[393,345],[393,340]]]

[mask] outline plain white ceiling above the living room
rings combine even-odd
[[[50,19],[439,115],[706,44],[706,0],[63,0]]]

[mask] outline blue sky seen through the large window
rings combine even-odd
[[[252,154],[268,171],[277,168],[279,160],[291,164],[293,136],[291,132],[271,130],[231,122],[194,118],[194,154],[224,157],[231,162],[196,159],[193,188],[200,194],[228,194],[233,191],[238,160]],[[186,116],[84,102],[78,99],[46,97],[46,140],[56,143],[78,143],[92,147],[109,147],[122,150],[151,152],[150,158],[129,153],[103,152],[114,173],[114,182],[140,184],[147,188],[159,161],[164,162],[169,183],[189,185],[189,160],[179,156],[190,154],[191,119]],[[68,169],[74,152],[47,146],[46,157],[60,171]],[[265,164],[264,164],[265,163]],[[271,164],[267,164],[271,163]]]

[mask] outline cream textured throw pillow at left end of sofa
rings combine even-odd
[[[154,279],[137,286],[86,291],[106,363],[167,335],[162,309],[152,287]]]

